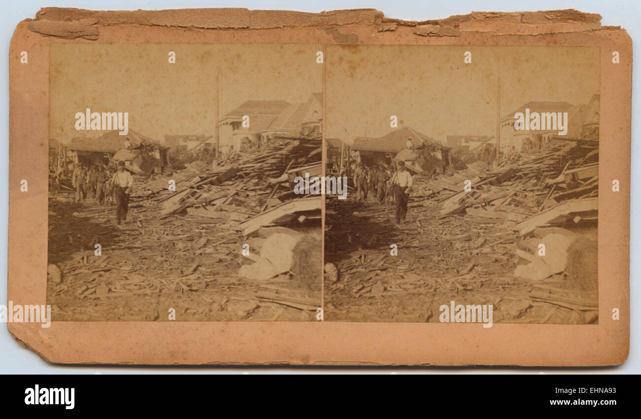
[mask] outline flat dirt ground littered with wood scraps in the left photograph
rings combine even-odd
[[[62,272],[47,280],[54,321],[162,321],[171,308],[176,320],[316,321],[320,293],[289,275],[238,277],[240,233],[184,214],[161,219],[159,208],[132,200],[119,226],[113,205],[50,196],[49,264]]]

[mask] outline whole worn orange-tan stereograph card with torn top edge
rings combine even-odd
[[[624,363],[632,49],[600,18],[43,8],[3,320],[60,364]]]

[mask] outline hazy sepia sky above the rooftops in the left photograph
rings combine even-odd
[[[246,100],[304,102],[322,92],[314,44],[51,44],[50,137],[98,137],[76,131],[76,112],[129,112],[129,129],[165,134],[215,133],[220,116]],[[176,64],[169,64],[169,51]]]

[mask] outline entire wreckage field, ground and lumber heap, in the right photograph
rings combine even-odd
[[[393,204],[328,197],[325,320],[438,322],[454,301],[494,323],[597,323],[597,157],[572,142],[416,176],[401,224]]]

